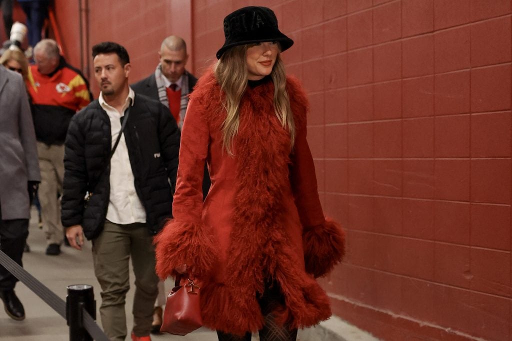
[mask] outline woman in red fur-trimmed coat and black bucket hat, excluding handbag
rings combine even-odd
[[[188,104],[174,219],[155,238],[157,273],[186,268],[200,281],[203,323],[219,340],[250,340],[255,331],[295,340],[297,328],[331,315],[315,278],[342,259],[344,234],[324,217],[306,94],[280,58],[293,41],[265,7],[229,14],[224,33],[219,61]]]

